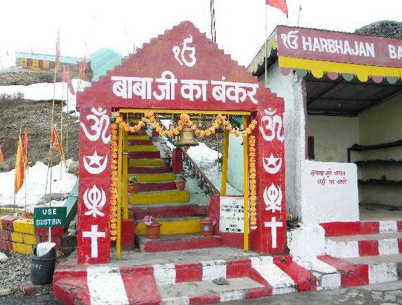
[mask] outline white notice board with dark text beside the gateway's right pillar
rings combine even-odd
[[[219,231],[227,233],[244,232],[243,197],[221,196]]]

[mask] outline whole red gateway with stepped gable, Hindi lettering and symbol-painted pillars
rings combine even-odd
[[[283,100],[264,89],[192,23],[180,23],[131,54],[122,65],[78,93],[77,103],[81,121],[78,262],[99,264],[110,259],[109,121],[112,111],[120,109],[137,113],[238,113],[248,124],[257,120],[252,133],[256,136],[256,173],[252,179],[256,185],[256,229],[247,232],[246,211],[244,234],[247,238],[249,234],[249,239],[243,234],[237,238],[245,240],[242,247],[246,249],[249,242],[249,249],[260,253],[284,252]],[[273,169],[266,161],[270,156],[276,161]]]

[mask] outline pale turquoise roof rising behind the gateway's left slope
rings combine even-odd
[[[122,56],[120,52],[108,47],[102,47],[91,54],[91,69],[93,71],[93,82],[97,82],[100,76],[106,75],[106,72],[113,70],[116,65],[121,65]]]

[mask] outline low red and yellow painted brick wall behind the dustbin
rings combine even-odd
[[[35,228],[32,218],[0,216],[0,250],[30,254],[39,242],[48,241],[47,227]],[[62,250],[63,227],[52,228],[52,242],[56,250]]]

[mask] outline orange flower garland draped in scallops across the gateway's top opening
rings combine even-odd
[[[205,130],[199,130],[197,128],[197,124],[194,124],[192,120],[190,120],[190,115],[187,113],[181,113],[180,115],[180,120],[177,122],[177,126],[173,128],[172,130],[165,130],[159,122],[155,119],[155,115],[152,111],[147,112],[144,114],[144,117],[139,121],[138,124],[134,126],[129,126],[124,122],[122,117],[120,117],[120,113],[115,112],[113,113],[116,123],[120,125],[121,128],[124,128],[124,131],[130,131],[131,133],[135,131],[139,131],[142,127],[145,126],[146,122],[150,122],[150,124],[155,128],[155,131],[157,133],[160,133],[163,136],[168,136],[172,137],[173,135],[179,135],[180,131],[183,129],[184,126],[187,126],[190,128],[196,135],[199,135],[200,137],[208,137],[216,132],[216,129],[218,129],[221,125],[225,126],[225,129],[227,131],[230,131],[232,135],[235,135],[236,137],[242,136],[245,137],[246,135],[249,135],[252,133],[254,128],[257,126],[257,121],[253,120],[249,126],[245,129],[245,131],[237,131],[235,128],[232,128],[232,124],[226,119],[225,115],[216,115],[216,119],[212,123],[212,126],[208,129]]]

